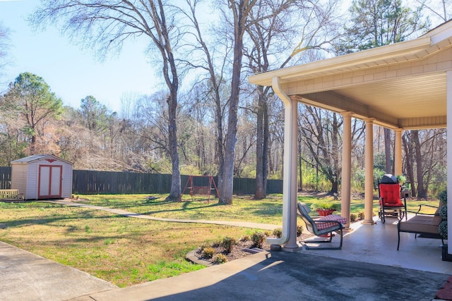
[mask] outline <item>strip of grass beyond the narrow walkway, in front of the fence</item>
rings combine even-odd
[[[138,214],[167,219],[207,219],[218,221],[250,221],[255,223],[273,223],[280,225],[283,219],[283,195],[268,195],[266,199],[255,200],[250,195],[236,195],[232,205],[218,204],[218,199],[197,197],[191,202],[189,195],[184,195],[182,202],[165,202],[166,195],[153,195],[155,200],[147,200],[149,195],[78,195],[80,202],[102,207],[124,209]],[[311,206],[329,202],[340,205],[340,200],[331,196],[298,196],[299,202]],[[419,204],[438,205],[438,200],[417,201],[407,199],[408,211],[417,211]],[[379,202],[374,197],[374,214],[378,214]],[[364,199],[352,199],[350,212],[364,212]],[[316,212],[312,211],[316,216]]]

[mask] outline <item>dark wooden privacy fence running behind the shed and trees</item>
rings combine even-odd
[[[184,189],[189,176],[181,176]],[[213,177],[218,185],[218,178]],[[194,183],[194,185],[203,185]],[[0,189],[11,188],[11,167],[0,166]],[[157,173],[129,173],[116,171],[73,170],[72,193],[79,195],[169,193],[171,175]],[[235,195],[254,195],[256,180],[234,178]],[[283,193],[283,180],[268,180],[267,193]]]

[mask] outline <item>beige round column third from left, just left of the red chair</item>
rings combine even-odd
[[[364,169],[364,221],[362,223],[373,225],[374,209],[374,118],[366,120],[366,146]]]

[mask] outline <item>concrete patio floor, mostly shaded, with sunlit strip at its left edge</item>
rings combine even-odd
[[[397,251],[396,221],[353,224],[343,250],[262,252],[76,300],[433,300],[452,262],[441,261],[441,240],[414,234]]]

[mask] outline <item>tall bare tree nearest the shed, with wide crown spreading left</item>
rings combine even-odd
[[[178,26],[177,10],[171,1],[42,1],[30,20],[37,25],[48,22],[61,25],[71,37],[81,37],[106,54],[110,49],[120,50],[131,37],[146,36],[150,47],[160,53],[162,76],[168,87],[168,145],[172,163],[172,184],[167,199],[180,200],[181,181],[177,150],[177,93],[179,74],[173,47],[183,32]]]

